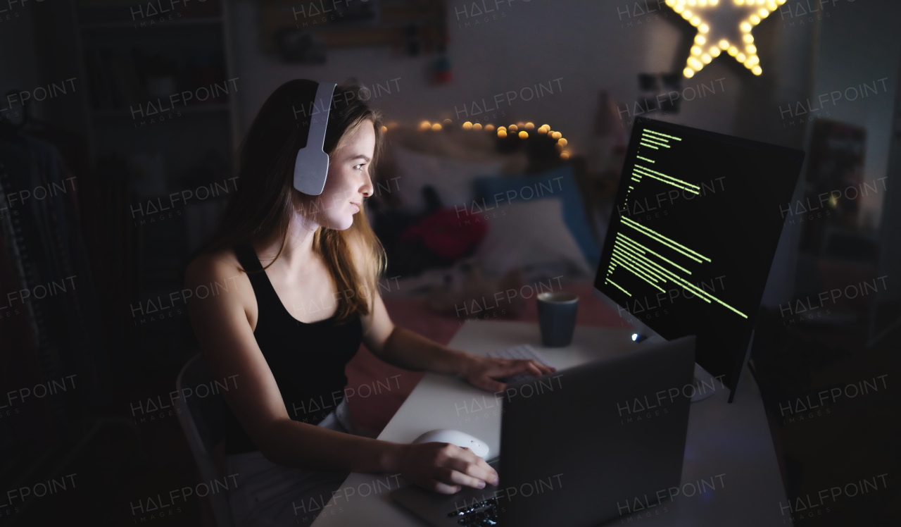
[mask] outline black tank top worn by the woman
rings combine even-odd
[[[287,414],[294,421],[318,424],[334,411],[344,395],[344,366],[362,342],[362,321],[356,315],[338,323],[337,313],[331,319],[310,324],[295,319],[279,300],[253,247],[236,246],[234,252],[248,272],[257,297],[257,328],[253,336],[278,383]],[[223,404],[225,453],[259,450],[228,404]]]

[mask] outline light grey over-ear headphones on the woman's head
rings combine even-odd
[[[323,151],[323,144],[335,86],[333,82],[320,82],[316,88],[306,146],[297,151],[294,162],[294,188],[312,196],[323,193],[325,177],[329,173],[329,154]]]

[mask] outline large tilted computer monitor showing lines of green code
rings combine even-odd
[[[735,388],[805,153],[636,118],[595,291]],[[722,376],[721,376],[722,375]]]

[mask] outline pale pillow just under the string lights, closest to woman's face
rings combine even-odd
[[[425,210],[423,187],[431,185],[448,208],[462,207],[475,197],[473,181],[478,176],[501,173],[502,162],[465,162],[444,159],[404,148],[394,149],[396,163],[396,194],[398,209],[410,214]]]

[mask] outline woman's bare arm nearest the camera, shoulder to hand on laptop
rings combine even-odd
[[[193,297],[187,304],[191,325],[214,379],[236,375],[236,387],[223,391],[223,397],[265,458],[306,470],[400,473],[443,494],[459,491],[460,485],[496,485],[495,470],[466,448],[446,443],[405,445],[291,420],[244,310],[242,299],[253,295],[247,275],[213,257],[188,266],[187,288],[210,282],[231,286],[205,299]]]

